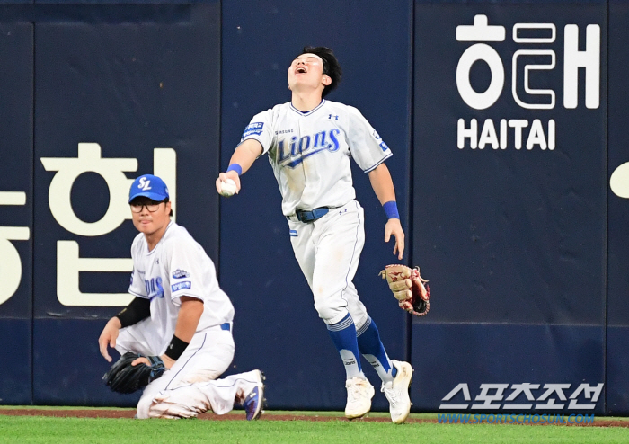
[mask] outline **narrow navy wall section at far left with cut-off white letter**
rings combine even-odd
[[[27,404],[32,373],[32,24],[0,24],[0,54],[0,404]]]

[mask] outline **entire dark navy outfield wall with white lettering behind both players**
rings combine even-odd
[[[212,191],[314,44],[343,67],[330,99],[394,151],[403,262],[430,279],[430,315],[403,315],[356,168],[355,283],[412,361],[413,410],[629,413],[623,167],[609,188],[629,162],[628,18],[613,0],[0,3],[0,403],[137,402],[102,385],[96,340],[129,300],[128,185],[157,173],[235,304],[228,372],[265,370],[270,408],[344,406],[267,160],[237,197]]]

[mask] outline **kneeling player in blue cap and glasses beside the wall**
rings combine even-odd
[[[131,185],[128,202],[140,233],[131,246],[129,293],[136,298],[112,317],[99,346],[159,356],[166,370],[146,386],[137,418],[190,418],[209,408],[227,413],[244,405],[248,420],[263,404],[260,370],[217,379],[234,358],[234,306],[218,287],[214,263],[188,231],[170,216],[168,189],[145,174]],[[133,365],[150,365],[138,358]]]

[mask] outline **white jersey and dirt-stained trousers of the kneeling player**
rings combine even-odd
[[[133,272],[129,293],[151,301],[151,315],[120,329],[116,350],[162,355],[173,338],[180,297],[203,301],[196,333],[182,356],[162,377],[146,386],[137,417],[190,417],[208,410],[232,410],[257,384],[255,372],[214,381],[234,359],[234,306],[220,289],[214,263],[188,231],[170,222],[152,251],[144,234],[131,246]],[[251,374],[250,374],[251,373]],[[226,383],[226,381],[228,381]]]

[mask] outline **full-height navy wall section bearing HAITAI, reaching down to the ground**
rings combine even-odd
[[[500,58],[505,82],[493,102],[477,109],[457,86],[463,83],[457,70],[483,41],[480,34],[465,40],[464,31],[483,20],[503,32],[483,44]],[[527,23],[545,28],[514,31]],[[564,28],[573,24],[581,51],[586,27],[600,29],[596,107],[586,106],[583,68],[576,108],[563,104],[563,72],[572,57],[564,51]],[[415,407],[439,410],[460,383],[476,394],[481,384],[569,384],[569,395],[582,382],[605,382],[607,4],[417,2],[414,48],[412,247],[413,257],[423,253],[435,300],[430,315],[413,324],[412,362],[424,378],[436,366],[448,369],[436,384],[413,388]],[[523,52],[531,50],[545,53]],[[551,57],[554,67],[541,70]],[[524,63],[531,67],[528,87],[545,93],[527,92]],[[496,78],[484,60],[464,75],[476,93]],[[473,119],[477,140],[487,120],[496,139],[501,120],[526,120],[522,147],[509,127],[503,147],[461,143],[459,120],[471,129]],[[528,149],[534,120],[542,122],[547,146]],[[596,405],[604,412],[604,395]]]

